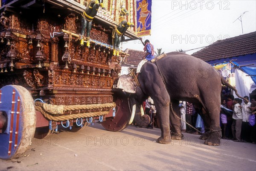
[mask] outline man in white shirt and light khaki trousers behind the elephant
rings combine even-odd
[[[239,102],[241,101],[240,98],[234,99],[234,112],[233,112],[233,123],[232,123],[232,134],[235,142],[241,142],[241,127],[243,116],[241,112],[241,106]]]

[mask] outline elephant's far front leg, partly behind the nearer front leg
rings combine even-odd
[[[173,112],[175,113],[173,113]],[[179,102],[173,102],[172,105],[170,105],[170,128],[171,128],[171,137],[173,140],[181,140],[183,135],[181,134],[180,129],[180,119],[177,118],[180,117],[179,115]]]

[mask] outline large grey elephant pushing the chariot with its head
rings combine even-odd
[[[200,138],[207,145],[220,145],[221,84],[235,91],[236,89],[214,67],[201,59],[179,52],[166,55],[156,62],[146,62],[143,65],[137,79],[139,86],[131,81],[134,80],[131,75],[124,75],[119,77],[117,88],[126,92],[129,107],[136,109],[136,112],[140,111],[139,105],[148,96],[154,100],[161,129],[158,143],[167,144],[171,143],[171,139],[182,138],[180,120],[175,113],[179,114],[179,101],[188,101],[202,111],[200,115],[204,120],[206,133]]]

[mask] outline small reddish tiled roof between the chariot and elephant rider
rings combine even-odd
[[[132,65],[138,65],[145,55],[144,51],[134,49],[125,49],[125,53],[130,55],[125,57],[125,63]]]

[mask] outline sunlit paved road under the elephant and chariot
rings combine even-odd
[[[160,129],[128,126],[106,131],[99,123],[81,132],[52,134],[19,158],[0,159],[0,170],[256,170],[256,145],[223,140],[206,146],[199,135],[159,144]]]

